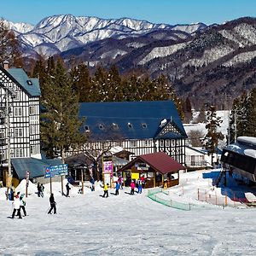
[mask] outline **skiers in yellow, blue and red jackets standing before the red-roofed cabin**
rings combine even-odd
[[[137,188],[137,193],[142,194],[143,193],[143,185],[145,183],[145,177],[142,176],[138,178],[137,180],[132,179],[130,183],[131,187],[131,192],[130,195],[134,195],[135,188]],[[109,188],[109,183],[105,183],[103,186],[103,191],[104,194],[102,197],[108,197],[108,188]],[[115,182],[115,194],[114,195],[119,195],[119,189],[123,189],[123,178],[119,177],[118,181]]]

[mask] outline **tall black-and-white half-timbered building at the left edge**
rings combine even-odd
[[[40,159],[38,79],[21,68],[0,67],[0,180],[5,182],[12,160]],[[23,166],[24,167],[24,166]],[[16,170],[17,171],[17,170]],[[17,172],[25,172],[21,167]]]

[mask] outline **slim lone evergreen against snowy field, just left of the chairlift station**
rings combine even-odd
[[[204,145],[208,154],[212,154],[212,165],[213,154],[216,152],[216,148],[218,147],[218,141],[224,139],[224,135],[220,131],[217,131],[222,122],[221,118],[217,117],[215,107],[211,106],[207,111],[207,134],[204,137]]]

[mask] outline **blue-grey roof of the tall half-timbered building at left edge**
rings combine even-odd
[[[8,73],[26,90],[31,96],[41,96],[38,79],[30,79],[22,68],[9,68]],[[31,81],[31,84],[28,84]]]

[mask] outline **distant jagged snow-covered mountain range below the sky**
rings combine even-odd
[[[171,26],[129,18],[104,20],[73,15],[50,16],[41,20],[36,26],[7,20],[5,22],[19,38],[26,56],[36,53],[44,56],[60,54],[105,38],[136,38],[163,30],[183,32],[181,35],[186,38],[185,35],[206,27],[201,23]]]

